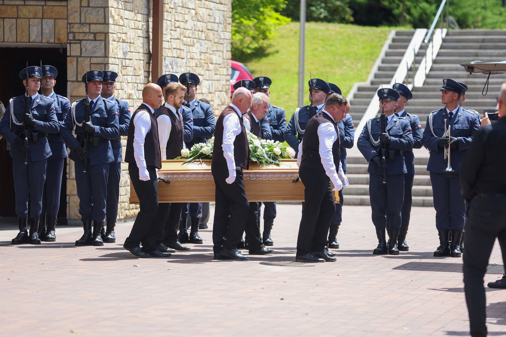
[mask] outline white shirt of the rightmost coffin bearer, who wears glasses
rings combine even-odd
[[[335,122],[334,118],[326,111],[323,110],[324,113],[330,116],[332,120]],[[338,176],[338,168],[334,165],[334,156],[332,154],[332,146],[334,142],[338,139],[338,133],[335,131],[335,127],[332,123],[321,123],[318,126],[318,139],[319,139],[319,149],[318,152],[320,154],[321,164],[325,169],[325,174],[330,178],[332,184],[334,186],[338,185],[339,176]],[[302,161],[302,143],[304,142],[304,138],[299,144],[299,155],[297,156],[297,165],[301,166]]]

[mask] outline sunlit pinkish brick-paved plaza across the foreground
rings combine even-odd
[[[462,259],[433,258],[432,208],[413,208],[410,252],[373,256],[370,208],[348,206],[334,263],[294,262],[299,205],[279,205],[271,256],[211,261],[204,245],[168,259],[136,259],[117,243],[75,247],[81,228],[58,242],[12,246],[0,227],[3,336],[444,336],[468,335]],[[12,229],[12,230],[11,230]],[[503,273],[498,245],[485,281]],[[489,335],[506,333],[506,291],[487,289]]]

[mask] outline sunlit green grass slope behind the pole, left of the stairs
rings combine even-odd
[[[285,109],[287,120],[298,107],[299,28],[298,22],[281,26],[265,51],[243,62],[254,76],[262,71],[272,79],[272,104]],[[305,92],[311,71],[313,77],[337,84],[346,97],[354,83],[367,79],[392,29],[307,23]]]

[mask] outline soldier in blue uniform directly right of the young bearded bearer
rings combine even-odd
[[[192,112],[193,139],[186,143],[186,147],[191,149],[196,143],[205,143],[208,138],[213,137],[216,127],[216,118],[209,104],[200,102],[195,98],[198,85],[200,84],[200,78],[196,74],[190,72],[181,74],[179,75],[179,82],[187,89],[185,104],[189,106]],[[188,213],[190,214],[191,220],[190,235],[188,235],[186,229]],[[181,243],[202,243],[202,238],[198,235],[201,214],[202,203],[189,203],[183,205],[179,227],[179,240]]]

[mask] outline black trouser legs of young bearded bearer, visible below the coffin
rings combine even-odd
[[[184,203],[160,203],[156,211],[156,243],[174,244]]]

